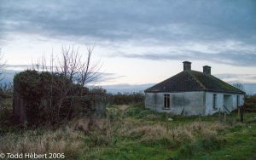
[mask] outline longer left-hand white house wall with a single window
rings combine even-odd
[[[164,108],[164,94],[170,94],[170,109]],[[173,114],[204,115],[205,92],[146,93],[146,108]]]

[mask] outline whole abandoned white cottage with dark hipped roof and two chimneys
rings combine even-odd
[[[183,62],[183,71],[144,92],[146,108],[187,116],[230,113],[243,105],[245,94],[212,76],[211,66],[203,66],[203,72],[193,71],[189,61]]]

